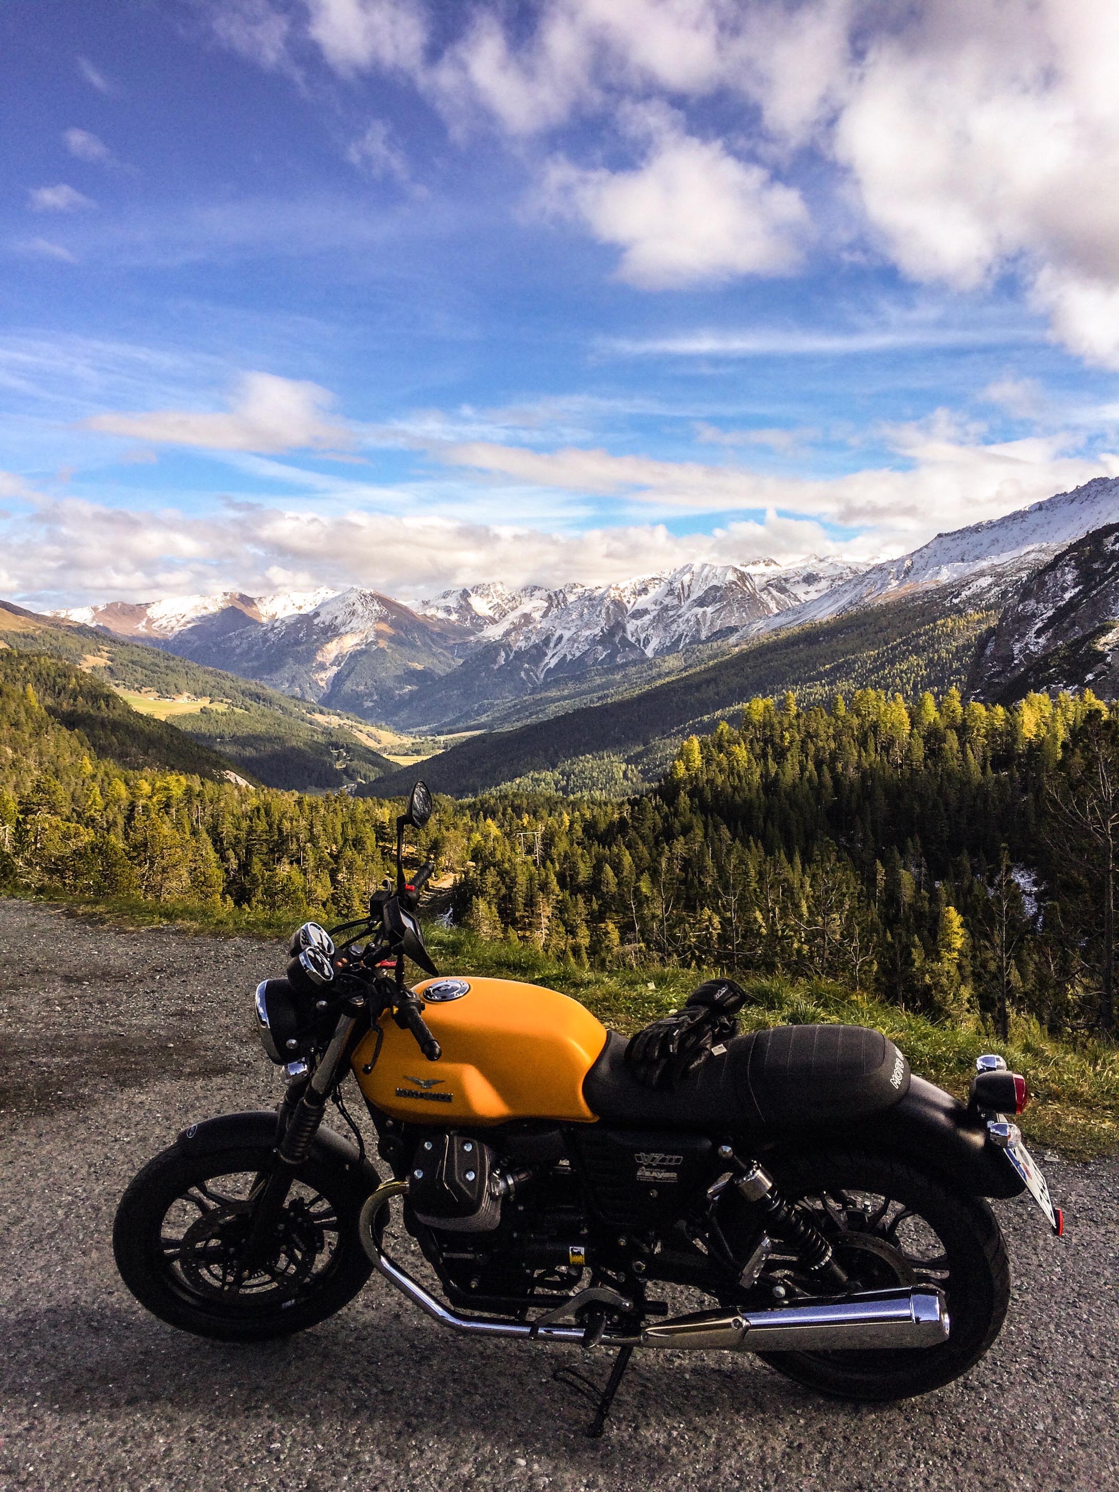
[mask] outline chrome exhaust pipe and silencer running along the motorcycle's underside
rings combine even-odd
[[[413,1306],[452,1331],[521,1341],[582,1343],[582,1326],[539,1326],[500,1316],[464,1316],[424,1289],[377,1244],[373,1225],[391,1197],[407,1182],[385,1182],[358,1219],[361,1246],[376,1270]],[[551,1314],[551,1313],[549,1313]],[[868,1291],[836,1300],[813,1300],[759,1311],[698,1311],[643,1326],[639,1334],[606,1332],[604,1347],[673,1347],[700,1352],[858,1352],[865,1349],[935,1347],[947,1338],[947,1304],[931,1285],[918,1289]]]

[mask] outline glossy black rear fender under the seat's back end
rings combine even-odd
[[[913,1077],[904,1098],[883,1113],[833,1123],[810,1135],[800,1131],[792,1144],[783,1138],[779,1147],[803,1150],[809,1138],[830,1149],[840,1143],[888,1150],[937,1171],[973,1197],[1018,1197],[1025,1191],[1007,1156],[988,1140],[983,1120],[924,1077]]]

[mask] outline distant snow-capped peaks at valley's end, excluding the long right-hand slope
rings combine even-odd
[[[619,585],[446,591],[412,609],[351,588],[110,603],[64,613],[295,698],[419,728],[468,727],[497,701],[731,637],[858,565],[689,564]]]

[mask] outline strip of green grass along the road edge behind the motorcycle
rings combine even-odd
[[[43,900],[33,898],[30,892],[7,895]],[[46,900],[78,916],[97,918],[112,927],[139,930],[173,925],[185,932],[227,937],[286,938],[298,921],[289,912],[246,912],[233,906],[58,897]],[[549,958],[531,944],[483,941],[458,928],[428,927],[427,938],[431,955],[445,974],[489,974],[548,985],[579,1000],[604,1025],[627,1035],[682,1006],[700,980],[716,973],[659,967],[577,968]],[[739,1018],[743,1031],[818,1021],[873,1026],[897,1041],[915,1073],[956,1098],[967,1095],[974,1059],[980,1052],[1001,1050],[1015,1071],[1025,1073],[1032,1092],[1032,1103],[1019,1119],[1026,1140],[1040,1147],[1052,1146],[1076,1161],[1119,1149],[1119,1049],[1112,1044],[1095,1040],[1059,1041],[1032,1021],[1016,1021],[1010,1041],[1000,1043],[989,1031],[952,1029],[825,982],[749,976],[740,976],[739,982],[749,997]]]

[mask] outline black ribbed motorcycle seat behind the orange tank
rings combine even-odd
[[[909,1092],[909,1062],[865,1026],[774,1026],[736,1035],[679,1088],[636,1082],[627,1040],[610,1032],[583,1079],[603,1123],[704,1134],[819,1126],[891,1109]]]

